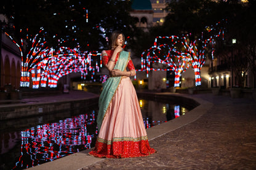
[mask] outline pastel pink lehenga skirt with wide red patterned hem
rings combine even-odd
[[[103,119],[95,149],[89,154],[100,158],[148,156],[150,147],[134,86],[122,78]]]

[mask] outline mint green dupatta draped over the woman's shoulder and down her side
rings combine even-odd
[[[125,71],[127,67],[127,63],[129,61],[129,52],[122,51],[119,55],[118,62],[114,66],[114,69],[119,69],[121,71]],[[98,101],[98,117],[97,117],[97,126],[98,131],[100,131],[100,127],[102,126],[103,118],[105,117],[106,110],[110,106],[110,102],[118,89],[118,85],[121,82],[121,77],[109,77],[105,83],[102,84],[103,90],[100,94],[100,99]]]

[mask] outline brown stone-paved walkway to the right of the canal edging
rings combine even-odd
[[[151,140],[157,153],[104,159],[81,169],[256,169],[256,102],[192,96],[214,106],[195,122]]]

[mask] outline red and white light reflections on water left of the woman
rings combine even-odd
[[[21,131],[20,157],[13,169],[29,168],[91,148],[95,111]],[[88,129],[94,129],[88,132]]]

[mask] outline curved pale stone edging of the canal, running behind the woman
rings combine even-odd
[[[161,98],[166,99],[167,101],[170,99],[182,99],[183,101],[189,101],[190,104],[192,104],[194,101],[194,104],[196,105],[194,109],[190,110],[186,113],[186,115],[183,115],[182,117],[178,117],[173,120],[170,120],[169,122],[165,122],[161,125],[157,125],[152,128],[146,129],[149,141],[196,121],[199,117],[204,115],[208,110],[210,110],[214,106],[214,104],[212,104],[211,102],[204,101],[199,98],[194,98],[193,96],[186,94],[137,92],[137,95],[139,97],[145,96],[151,99]],[[105,160],[105,158],[95,158],[93,156],[90,156],[88,153],[92,149],[74,153],[72,155],[65,156],[58,160],[51,161],[49,163],[44,163],[29,169],[82,169],[87,166],[90,166],[91,164]]]

